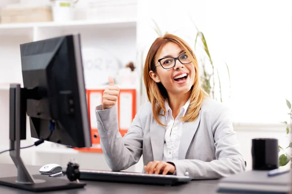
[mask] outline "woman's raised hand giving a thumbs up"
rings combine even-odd
[[[106,87],[102,97],[102,109],[109,109],[114,106],[118,100],[120,88],[114,85],[112,77],[109,77],[109,85]]]

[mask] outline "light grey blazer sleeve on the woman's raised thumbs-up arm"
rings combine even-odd
[[[95,113],[101,148],[106,162],[113,171],[125,170],[139,162],[143,145],[140,112],[141,109],[133,119],[128,133],[122,137],[119,132],[116,106],[106,110],[102,110],[102,105],[96,107]]]

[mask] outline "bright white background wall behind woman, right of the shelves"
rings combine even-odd
[[[196,23],[219,69],[223,99],[234,121],[286,119],[285,98],[292,99],[292,1],[141,0],[140,5],[140,45],[149,47],[157,37],[153,18],[163,32],[179,35],[193,47],[196,30],[190,18]],[[230,99],[224,62],[231,73]]]

